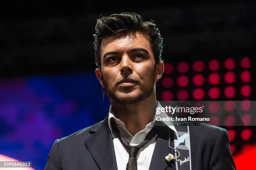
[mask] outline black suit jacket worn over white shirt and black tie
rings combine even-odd
[[[174,160],[167,162],[168,127],[161,127],[150,170],[175,170]],[[235,170],[228,132],[216,126],[189,126],[192,170]],[[172,136],[173,137],[173,136]],[[173,147],[173,141],[171,141]],[[55,140],[45,170],[117,170],[113,138],[108,116],[88,128]]]

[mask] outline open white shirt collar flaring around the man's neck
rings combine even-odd
[[[159,101],[156,101],[156,107],[162,107],[160,102]],[[166,112],[163,112],[162,113],[162,116],[164,117],[168,117],[167,113]],[[148,123],[146,125],[146,130],[150,130],[154,124],[155,124],[155,121],[156,121],[156,117],[157,117],[157,114],[155,113],[155,117],[154,117],[154,120],[150,123]],[[110,128],[110,131],[111,131],[111,134],[112,134],[112,137],[114,138],[114,135],[113,135],[113,131],[112,131],[112,127],[111,127],[111,119],[114,119],[115,122],[118,124],[118,126],[122,129],[122,130],[126,130],[125,128],[125,124],[123,123],[123,121],[121,121],[120,119],[116,118],[114,113],[113,113],[113,110],[112,110],[112,107],[110,105],[109,107],[109,112],[108,112],[108,125],[109,125],[109,128]],[[173,130],[175,133],[177,133],[177,130],[175,129],[174,125],[173,125],[173,122],[171,121],[162,121],[166,126],[168,126],[171,130]],[[128,131],[127,131],[128,132]],[[128,132],[129,133],[129,132]]]

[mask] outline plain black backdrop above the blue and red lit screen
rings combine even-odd
[[[153,19],[166,62],[254,56],[256,2],[2,1],[1,75],[92,71],[100,15],[135,12]]]

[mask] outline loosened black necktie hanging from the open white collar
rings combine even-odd
[[[126,170],[137,170],[137,155],[138,155],[138,152],[141,149],[141,147],[143,147],[143,145],[148,143],[149,140],[151,140],[154,136],[157,135],[157,127],[154,126],[149,131],[149,133],[146,135],[145,140],[142,143],[140,143],[139,145],[136,145],[136,146],[131,146],[128,143],[128,141],[123,137],[123,135],[120,133],[118,128],[116,127],[114,119],[112,119],[111,124],[112,124],[112,127],[115,130],[115,132],[118,134],[120,142],[123,144],[123,146],[125,146],[129,150],[129,160],[128,160],[128,163],[126,165]]]

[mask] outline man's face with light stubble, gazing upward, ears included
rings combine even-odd
[[[155,71],[154,54],[146,37],[139,33],[110,37],[102,40],[100,50],[101,70],[95,72],[111,100],[131,104],[154,95],[155,81],[163,68],[158,66]]]

